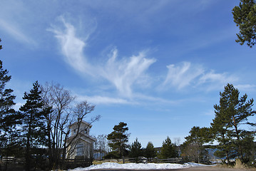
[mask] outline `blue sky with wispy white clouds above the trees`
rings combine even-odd
[[[255,98],[256,48],[235,43],[239,2],[0,0],[16,108],[34,81],[54,81],[96,105],[93,135],[123,121],[144,147],[183,142],[193,126],[210,126],[227,83]]]

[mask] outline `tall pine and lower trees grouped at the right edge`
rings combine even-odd
[[[256,111],[252,110],[253,99],[247,100],[247,94],[239,95],[239,90],[232,84],[225,86],[220,92],[220,104],[214,105],[215,118],[210,128],[193,127],[183,143],[183,155],[203,156],[206,152],[203,145],[217,142],[214,155],[227,165],[232,165],[231,159],[240,159],[244,164],[253,163],[255,129],[249,126],[255,126],[255,123],[248,122],[248,118]]]

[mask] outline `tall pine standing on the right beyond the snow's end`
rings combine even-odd
[[[220,143],[216,155],[225,155],[227,162],[230,157],[245,159],[244,137],[248,138],[252,133],[242,130],[240,125],[255,114],[252,105],[253,99],[247,100],[246,94],[239,98],[239,91],[232,84],[227,84],[224,92],[220,93],[220,105],[214,105],[215,118],[211,125],[215,139]]]

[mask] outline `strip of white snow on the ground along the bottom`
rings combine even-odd
[[[78,167],[69,171],[86,171],[86,170],[97,170],[97,169],[120,169],[120,170],[170,170],[170,169],[180,169],[180,168],[188,168],[188,167],[198,167],[205,166],[193,162],[188,162],[183,165],[180,164],[171,164],[171,163],[126,163],[126,164],[118,164],[116,162],[104,162],[101,165],[91,165],[90,167]]]

